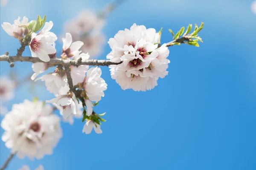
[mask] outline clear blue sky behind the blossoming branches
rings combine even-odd
[[[0,9],[0,22],[17,16],[33,20],[47,15],[52,31],[61,34],[63,22],[82,9],[102,9],[105,0],[9,0]],[[256,15],[252,0],[128,0],[113,11],[104,28],[109,39],[133,23],[160,30],[169,42],[168,29],[178,31],[189,23],[205,23],[204,43],[196,48],[170,49],[169,75],[147,92],[123,91],[102,67],[108,90],[96,113],[107,112],[98,135],[81,133],[83,123],[62,123],[64,137],[54,154],[30,161],[12,160],[7,170],[23,164],[45,170],[255,170],[256,169]],[[12,4],[12,5],[11,5]],[[0,54],[16,54],[19,43],[0,28]],[[61,44],[57,44],[61,49]],[[99,59],[110,52],[103,47]],[[26,49],[24,56],[29,55]],[[32,71],[29,63],[16,63],[20,79]],[[0,63],[0,76],[10,71]],[[18,89],[8,105],[53,97],[45,87],[29,93],[29,84]],[[1,118],[2,119],[2,118]],[[3,130],[0,129],[0,134]],[[0,142],[0,164],[9,150]]]

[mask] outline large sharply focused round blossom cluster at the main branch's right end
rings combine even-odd
[[[107,58],[119,65],[111,65],[111,77],[123,90],[151,90],[158,78],[168,74],[169,49],[166,44],[158,48],[160,34],[154,28],[134,24],[130,30],[119,31],[108,41],[112,51]]]

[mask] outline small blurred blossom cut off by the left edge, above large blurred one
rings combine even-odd
[[[15,82],[8,77],[0,77],[0,114],[8,110],[3,103],[14,98]]]

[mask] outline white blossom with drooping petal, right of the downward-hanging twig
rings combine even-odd
[[[84,77],[84,91],[86,92],[85,104],[87,107],[87,116],[90,116],[93,112],[93,103],[99,102],[104,97],[104,92],[107,90],[107,83],[100,76],[102,71],[99,67],[92,67],[87,71],[86,77]]]

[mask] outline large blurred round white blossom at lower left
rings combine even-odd
[[[12,106],[6,114],[1,127],[5,132],[2,140],[12,153],[17,152],[20,159],[42,159],[51,155],[53,148],[62,137],[60,119],[52,114],[52,107],[44,102],[23,103]]]

